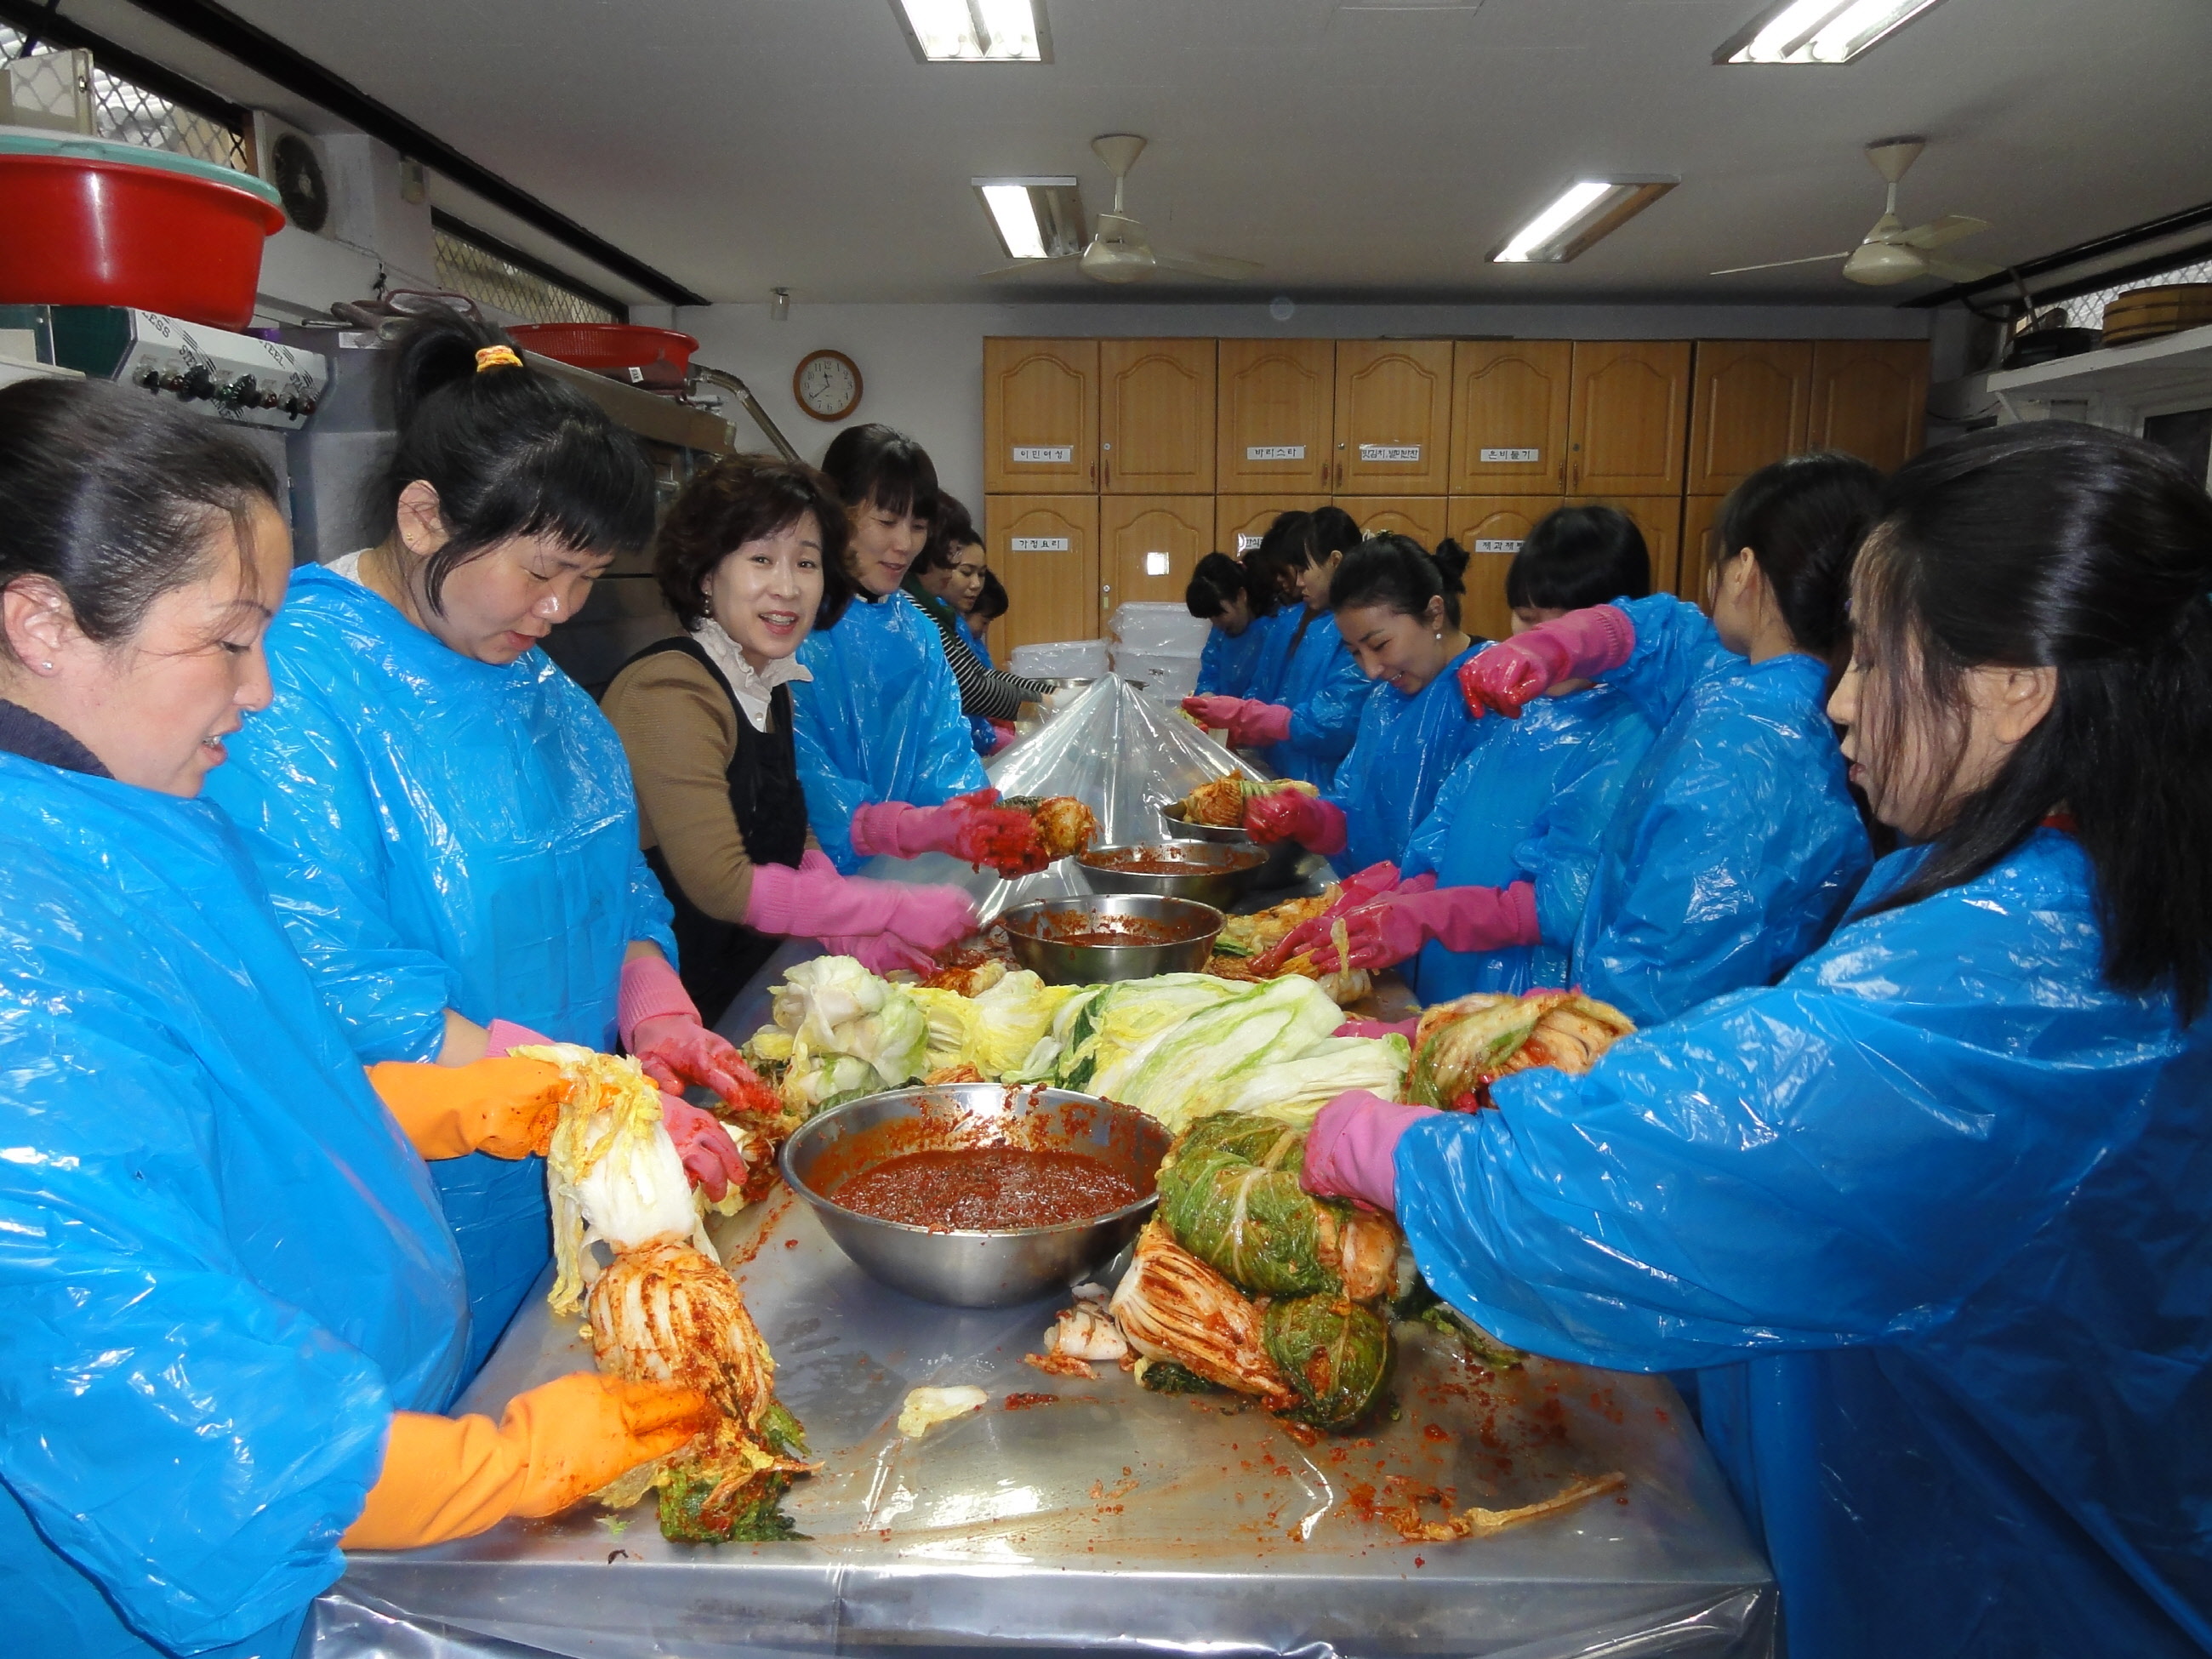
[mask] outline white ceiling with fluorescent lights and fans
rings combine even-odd
[[[975,281],[1002,259],[969,179],[1075,173],[1097,212],[1106,131],[1152,142],[1130,208],[1155,241],[1263,263],[1141,290],[1210,299],[1891,305],[1931,283],[1705,274],[1851,246],[1880,210],[1858,146],[1891,133],[1931,139],[1909,223],[1995,221],[1958,254],[2212,197],[2203,0],[1944,0],[1845,69],[1714,66],[1761,0],[1046,0],[1044,66],[918,64],[889,0],[228,4],[717,301],[1135,299]],[[219,73],[128,0],[69,11]],[[1484,263],[1601,170],[1681,188],[1571,265]]]

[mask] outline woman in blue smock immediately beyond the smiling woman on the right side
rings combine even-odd
[[[1279,529],[1281,520],[1270,538]],[[1371,690],[1329,615],[1329,582],[1358,544],[1360,531],[1340,507],[1307,518],[1276,555],[1296,582],[1301,608],[1276,619],[1254,695],[1183,699],[1194,721],[1225,730],[1241,750],[1259,750],[1281,776],[1323,790],[1352,752]]]

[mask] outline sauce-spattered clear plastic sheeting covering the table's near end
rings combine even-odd
[[[818,1473],[805,1542],[670,1544],[650,1504],[361,1553],[316,1604],[330,1659],[515,1655],[1705,1655],[1761,1659],[1774,1586],[1661,1378],[1467,1363],[1400,1325],[1396,1411],[1305,1442],[1237,1396],[1148,1394],[1022,1363],[1055,1307],[951,1310],[865,1279],[779,1194],[723,1223]],[[460,1409],[591,1365],[524,1310]],[[987,1405],[920,1440],[922,1385]],[[1491,1537],[1405,1542],[1391,1509],[1606,1491]]]

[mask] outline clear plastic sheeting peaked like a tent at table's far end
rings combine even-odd
[[[984,772],[1002,796],[1075,796],[1097,814],[1102,847],[1166,841],[1159,807],[1181,801],[1201,783],[1232,772],[1250,779],[1272,776],[1206,737],[1181,710],[1119,679],[1088,686],[1044,726],[993,759]],[[1015,880],[1000,880],[991,869],[973,869],[940,852],[920,858],[874,858],[860,874],[960,887],[975,900],[984,922],[1033,898],[1091,891],[1073,858]]]

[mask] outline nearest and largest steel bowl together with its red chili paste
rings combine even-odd
[[[1168,1139],[1066,1088],[922,1084],[807,1119],[783,1179],[872,1279],[1004,1307],[1082,1283],[1137,1237]]]

